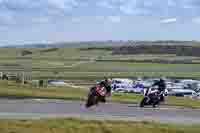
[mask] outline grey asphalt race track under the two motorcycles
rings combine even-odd
[[[83,102],[62,100],[0,100],[0,119],[41,119],[75,117],[86,120],[155,121],[200,124],[200,110],[161,106],[139,108],[136,104],[106,103],[90,109]]]

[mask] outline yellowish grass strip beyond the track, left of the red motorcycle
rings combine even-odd
[[[34,88],[12,81],[0,82],[0,97],[82,100],[86,94],[86,90],[72,87]]]

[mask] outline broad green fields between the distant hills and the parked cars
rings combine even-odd
[[[22,55],[24,50],[32,54]],[[131,60],[190,60],[199,57],[175,55],[112,55],[109,50],[0,49],[0,71],[29,71],[34,79],[99,79],[111,77],[200,77],[200,64],[134,63]],[[109,60],[109,61],[107,61]]]

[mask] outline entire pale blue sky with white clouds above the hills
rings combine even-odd
[[[200,0],[0,0],[0,45],[200,40]]]

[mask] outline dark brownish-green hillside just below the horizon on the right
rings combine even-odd
[[[113,49],[113,55],[137,55],[137,54],[171,54],[176,56],[200,57],[200,45],[133,45],[122,46]]]

